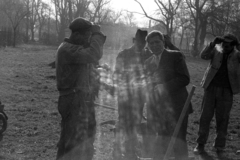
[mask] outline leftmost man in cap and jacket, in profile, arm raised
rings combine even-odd
[[[99,81],[96,65],[106,37],[100,26],[81,17],[74,19],[69,29],[71,35],[60,44],[56,56],[58,111],[62,117],[57,160],[91,160]]]

